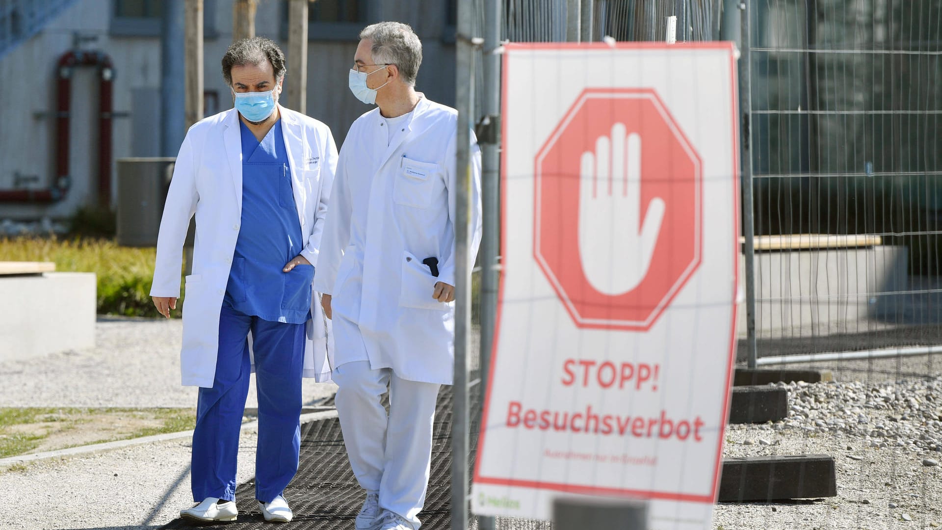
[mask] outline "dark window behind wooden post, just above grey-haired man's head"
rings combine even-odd
[[[360,30],[373,22],[380,0],[317,0],[307,11],[311,41],[357,41]],[[283,3],[282,35],[287,38],[288,6]]]

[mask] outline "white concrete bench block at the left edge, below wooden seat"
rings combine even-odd
[[[0,361],[95,345],[95,274],[0,276]]]

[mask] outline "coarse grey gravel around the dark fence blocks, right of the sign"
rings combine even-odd
[[[788,389],[788,419],[730,425],[724,455],[832,455],[837,496],[794,504],[718,505],[714,527],[877,530],[942,526],[942,375],[936,369],[923,370],[932,373],[928,377],[893,380],[886,376],[924,369],[930,360],[854,361],[859,366],[848,363],[841,371],[856,373],[862,381],[779,384]],[[908,368],[902,369],[903,362]],[[893,370],[894,365],[898,370]]]

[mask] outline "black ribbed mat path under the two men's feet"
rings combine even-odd
[[[419,514],[423,530],[451,527],[451,398],[451,387],[442,387],[432,434],[429,492],[425,509]],[[298,473],[284,489],[284,498],[294,512],[292,522],[278,525],[265,522],[260,505],[255,501],[255,484],[249,481],[235,490],[238,521],[194,524],[177,519],[161,528],[352,529],[353,520],[365,500],[365,492],[360,489],[350,469],[340,421],[333,418],[301,425],[300,444]]]

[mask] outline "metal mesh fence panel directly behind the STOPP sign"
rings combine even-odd
[[[459,286],[455,338],[455,401],[452,451],[452,528],[468,528],[468,458],[472,449],[468,429],[474,424],[478,410],[471,410],[472,391],[486,388],[486,374],[494,338],[497,283],[499,275],[499,144],[500,144],[500,42],[503,38],[516,41],[597,41],[620,27],[626,32],[616,35],[622,40],[664,40],[666,17],[678,19],[677,39],[717,40],[721,34],[723,0],[665,0],[644,3],[635,9],[634,0],[457,0],[457,103],[459,111],[459,152],[457,167],[465,168],[467,142],[461,133],[477,124],[482,155],[482,201],[484,234],[479,264],[480,296],[480,377],[470,378],[471,352],[468,338],[471,321],[469,290]],[[625,25],[639,14],[641,22]],[[665,20],[660,20],[664,15]],[[714,20],[715,19],[715,20]],[[516,24],[516,25],[514,25]],[[643,37],[643,38],[642,38]],[[480,91],[476,90],[479,86]],[[459,186],[463,188],[460,171]],[[465,201],[460,197],[460,205]],[[463,208],[459,208],[460,210]],[[462,219],[460,217],[459,219]],[[464,230],[459,223],[459,244]],[[458,275],[462,275],[459,272]],[[462,280],[460,279],[459,282]],[[481,400],[483,401],[483,400]],[[492,530],[498,521],[477,517],[478,528]],[[542,527],[542,526],[540,526]]]

